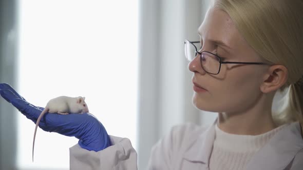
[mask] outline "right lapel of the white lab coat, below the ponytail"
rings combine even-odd
[[[275,134],[269,142],[255,154],[247,170],[287,169],[288,164],[303,148],[303,139],[300,135],[300,125],[293,122]]]

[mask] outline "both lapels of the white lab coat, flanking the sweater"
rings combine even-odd
[[[183,158],[191,162],[209,165],[210,156],[215,140],[215,125],[217,119],[205,130],[184,153]],[[298,121],[289,123],[277,132],[266,145],[264,145],[248,164],[248,170],[285,169],[295,155],[303,149],[303,139]]]

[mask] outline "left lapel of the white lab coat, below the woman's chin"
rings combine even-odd
[[[191,162],[200,162],[209,165],[210,156],[213,150],[215,140],[215,125],[217,119],[213,124],[204,131],[199,138],[184,153],[183,158]]]

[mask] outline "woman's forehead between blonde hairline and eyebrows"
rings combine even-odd
[[[243,42],[243,38],[236,29],[233,20],[228,13],[210,8],[198,29],[203,41],[218,40],[233,48]]]

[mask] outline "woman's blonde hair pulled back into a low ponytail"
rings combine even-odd
[[[212,4],[230,15],[240,34],[265,60],[288,69],[285,107],[273,118],[279,124],[303,124],[303,1],[215,0]]]

